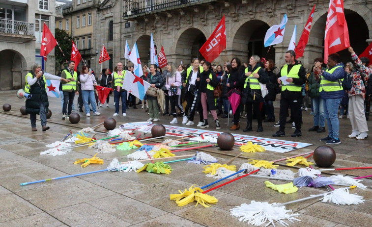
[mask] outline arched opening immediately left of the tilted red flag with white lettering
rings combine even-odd
[[[193,58],[204,58],[199,52],[207,39],[198,28],[189,28],[182,32],[177,40],[176,63],[190,64]]]

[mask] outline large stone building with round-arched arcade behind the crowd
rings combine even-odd
[[[225,15],[227,48],[215,63],[234,56],[247,62],[250,55],[258,54],[283,65],[294,25],[298,41],[314,4],[309,43],[300,58],[305,67],[311,67],[314,58],[323,56],[329,0],[105,0],[97,11],[96,48],[100,50],[104,43],[113,57],[111,62],[124,62],[125,40],[130,48],[137,42],[144,65],[149,59],[152,32],[157,49],[164,47],[168,61],[186,65],[201,57],[200,47]],[[344,0],[344,11],[351,46],[361,53],[372,39],[372,0]],[[267,53],[268,48],[263,47],[266,30],[279,24],[285,13],[284,41]],[[341,54],[343,61],[350,59],[347,50]],[[103,67],[112,65],[104,62]]]

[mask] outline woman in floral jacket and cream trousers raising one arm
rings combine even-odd
[[[368,137],[367,120],[364,114],[364,100],[366,98],[366,81],[370,77],[370,70],[366,67],[368,58],[359,59],[352,47],[347,49],[351,53],[351,59],[356,64],[356,69],[351,72],[351,89],[349,94],[349,117],[352,133],[349,138],[364,140]]]

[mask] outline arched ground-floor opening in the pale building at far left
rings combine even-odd
[[[23,69],[26,69],[26,59],[14,50],[0,51],[0,90],[20,89],[23,86]]]

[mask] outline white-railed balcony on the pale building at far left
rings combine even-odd
[[[34,35],[34,24],[23,21],[0,19],[0,33]]]

